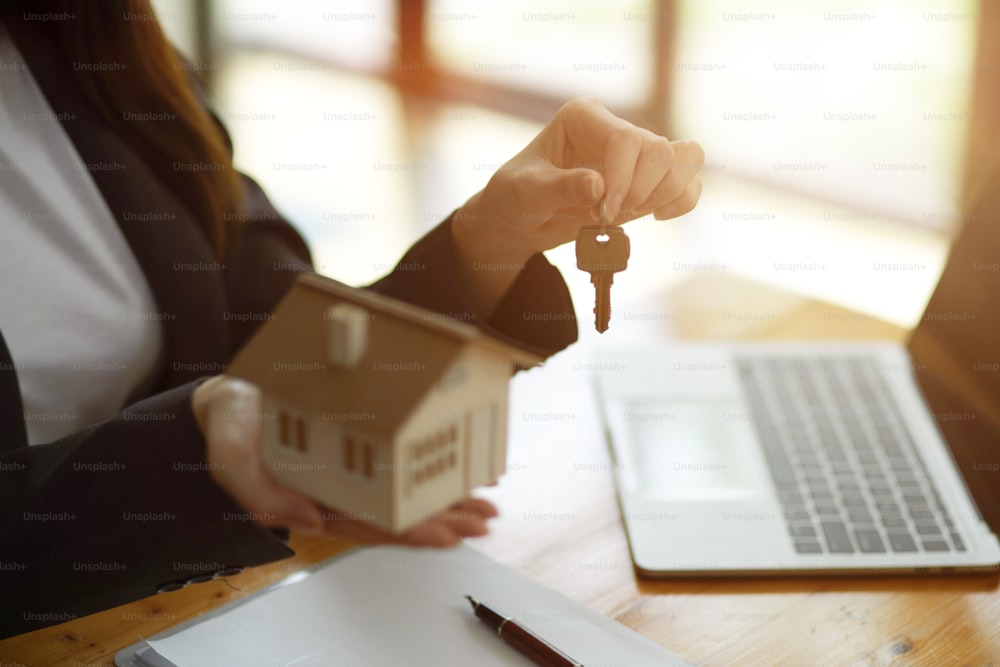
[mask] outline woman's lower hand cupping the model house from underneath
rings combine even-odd
[[[399,535],[345,518],[343,513],[321,508],[268,472],[261,456],[264,415],[255,385],[219,375],[195,389],[191,403],[205,436],[212,477],[247,512],[261,517],[263,525],[366,544],[448,547],[463,537],[485,535],[486,520],[497,515],[487,501],[466,498]]]

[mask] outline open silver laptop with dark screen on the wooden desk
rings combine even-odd
[[[601,352],[598,403],[652,577],[996,571],[1000,188],[905,345]],[[612,363],[613,362],[613,363]]]

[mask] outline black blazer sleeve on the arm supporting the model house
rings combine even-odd
[[[292,555],[212,480],[195,385],[0,457],[0,637]]]

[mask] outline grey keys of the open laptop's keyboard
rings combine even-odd
[[[870,358],[740,358],[800,554],[965,551]]]

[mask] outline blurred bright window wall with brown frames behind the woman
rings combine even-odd
[[[577,95],[707,156],[693,213],[629,225],[616,304],[727,274],[913,326],[997,168],[988,0],[154,5],[237,166],[352,284]],[[550,257],[589,313],[572,247]]]

